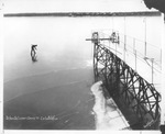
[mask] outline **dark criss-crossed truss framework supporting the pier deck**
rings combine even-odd
[[[98,38],[95,33],[94,38]],[[110,96],[120,97],[132,109],[143,127],[160,120],[161,94],[135,70],[110,49],[94,40],[94,74],[96,81],[102,80]]]

